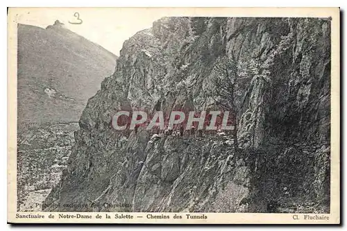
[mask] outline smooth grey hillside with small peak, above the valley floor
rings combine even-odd
[[[78,121],[117,56],[55,24],[18,26],[18,121]]]

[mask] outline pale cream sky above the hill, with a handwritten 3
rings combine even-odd
[[[78,12],[81,22],[74,16]],[[82,35],[108,51],[119,55],[125,40],[137,31],[151,28],[155,20],[164,17],[146,8],[22,8],[16,14],[19,24],[46,26],[58,19],[70,31]]]

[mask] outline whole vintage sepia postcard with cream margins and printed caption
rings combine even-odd
[[[339,8],[193,9],[9,9],[10,222],[339,223]]]

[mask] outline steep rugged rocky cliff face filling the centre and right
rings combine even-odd
[[[228,135],[151,139],[110,126],[124,108],[217,108],[215,67],[230,55],[239,76],[236,151]],[[328,212],[330,21],[160,19],[124,42],[115,74],[79,123],[48,210]]]

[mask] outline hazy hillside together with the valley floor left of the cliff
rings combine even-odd
[[[46,29],[19,24],[17,57],[17,209],[37,211],[71,153],[72,121],[117,56],[56,21]]]

